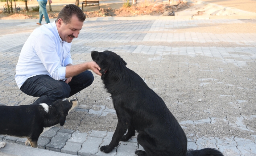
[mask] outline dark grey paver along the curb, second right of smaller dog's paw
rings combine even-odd
[[[45,148],[51,151],[61,152],[61,148],[65,146],[70,137],[71,134],[69,133],[58,132],[57,135],[51,139],[51,142],[45,146]]]

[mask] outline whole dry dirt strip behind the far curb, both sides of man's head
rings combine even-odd
[[[136,5],[132,5],[131,7],[125,8],[123,7],[123,3],[117,4],[103,4],[100,5],[100,10],[98,10],[98,6],[85,7],[84,13],[86,17],[106,17],[106,16],[115,16],[115,17],[128,17],[128,16],[160,16],[166,10],[178,12],[184,9],[189,8],[191,3],[180,3],[177,6],[170,5],[168,3],[162,2],[149,2],[145,1],[143,3],[138,3]],[[49,7],[46,6],[49,18],[56,18],[58,16],[59,11],[65,5],[51,5],[53,12],[50,12]],[[13,7],[14,8],[14,7]],[[31,11],[32,8],[29,7],[29,12],[21,11],[21,13],[3,13],[0,12],[0,19],[2,20],[11,20],[11,19],[34,19],[39,18],[39,12]]]

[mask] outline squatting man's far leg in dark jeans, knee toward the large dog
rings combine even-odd
[[[84,88],[90,86],[94,80],[94,76],[90,71],[84,71],[77,76],[74,76],[72,80],[68,83],[70,86],[70,96],[80,92]]]

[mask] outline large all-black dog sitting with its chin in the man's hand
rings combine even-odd
[[[102,146],[100,151],[111,152],[120,140],[127,141],[137,130],[137,140],[145,149],[136,151],[138,156],[223,156],[212,148],[187,151],[185,132],[162,98],[128,69],[119,55],[111,51],[92,51],[91,57],[101,68],[101,78],[111,93],[118,117],[111,143]]]

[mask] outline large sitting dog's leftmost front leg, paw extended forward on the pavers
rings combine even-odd
[[[112,140],[108,146],[100,147],[100,151],[104,153],[111,152],[120,142],[120,139],[125,134],[127,128],[129,127],[129,123],[118,119],[116,130],[113,134]]]

